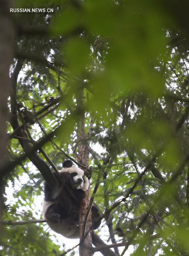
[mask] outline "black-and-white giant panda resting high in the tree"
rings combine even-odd
[[[79,238],[79,211],[85,192],[89,188],[89,180],[84,171],[72,166],[72,161],[63,162],[59,171],[60,177],[53,172],[59,181],[55,189],[44,184],[45,199],[43,201],[43,217],[49,227],[66,238]],[[99,227],[101,214],[96,205],[92,206],[93,229]]]

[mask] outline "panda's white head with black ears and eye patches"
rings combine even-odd
[[[72,166],[72,161],[67,159],[63,162],[63,168],[59,172],[68,172],[74,180],[74,188],[86,191],[89,188],[89,180],[84,177],[84,171]]]

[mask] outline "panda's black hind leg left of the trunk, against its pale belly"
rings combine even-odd
[[[45,218],[53,223],[58,223],[62,219],[65,219],[68,217],[67,211],[63,205],[60,203],[54,203],[49,206],[45,213]]]

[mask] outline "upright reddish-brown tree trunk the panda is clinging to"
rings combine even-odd
[[[88,150],[83,142],[83,139],[85,138],[84,89],[81,89],[76,93],[76,101],[78,106],[77,137],[79,142],[77,161],[80,164],[83,164],[88,167],[89,165]],[[86,235],[85,235],[84,241],[81,241],[83,221],[84,221],[85,213],[89,205],[89,202],[90,202],[90,188],[85,193],[85,198],[82,201],[82,205],[80,209],[79,229],[80,229],[80,242],[82,242],[82,244],[79,247],[80,256],[92,255],[92,251],[87,248],[87,247],[92,247],[91,214],[89,214],[88,221],[86,224]]]

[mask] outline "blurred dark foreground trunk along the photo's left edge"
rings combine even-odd
[[[10,91],[10,77],[9,77],[9,69],[10,65],[13,61],[14,56],[14,47],[15,47],[15,33],[14,33],[14,25],[10,16],[10,5],[11,1],[1,0],[1,8],[0,8],[0,34],[1,34],[1,59],[0,59],[0,164],[3,165],[5,161],[6,155],[6,146],[7,146],[7,137],[6,137],[6,129],[7,129],[7,99]],[[3,215],[4,209],[4,200],[3,193],[5,189],[4,181],[0,181],[0,218]],[[2,240],[1,235],[2,226],[0,225],[0,240]]]

